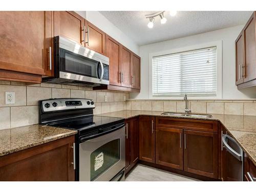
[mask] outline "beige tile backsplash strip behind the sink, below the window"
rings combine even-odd
[[[189,100],[192,113],[256,116],[256,100]],[[126,100],[126,110],[184,112],[183,100]]]

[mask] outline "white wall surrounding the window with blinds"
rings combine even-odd
[[[222,98],[223,99],[248,99],[256,98],[256,89],[239,91],[235,84],[235,47],[234,41],[241,32],[243,26],[236,26],[198,35],[157,42],[155,44],[140,47],[141,56],[141,92],[132,93],[132,99],[148,99],[148,63],[151,53],[178,49],[211,41],[222,40]],[[157,98],[156,98],[157,99]],[[168,97],[166,99],[172,99]],[[192,99],[192,98],[191,98]]]

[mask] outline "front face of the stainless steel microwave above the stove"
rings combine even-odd
[[[59,48],[59,77],[99,84],[109,84],[109,65],[104,60],[89,58]]]

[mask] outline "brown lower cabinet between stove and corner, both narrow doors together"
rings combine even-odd
[[[125,120],[125,173],[139,160],[139,117]]]

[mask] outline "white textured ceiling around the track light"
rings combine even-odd
[[[175,39],[214,31],[227,27],[244,25],[252,11],[178,11],[170,16],[166,11],[166,24],[155,18],[154,27],[147,27],[145,14],[156,11],[100,11],[117,28],[132,38],[138,45],[147,45],[168,39]]]

